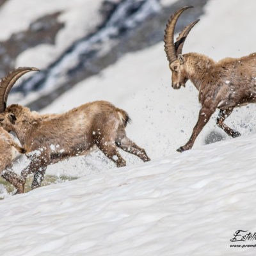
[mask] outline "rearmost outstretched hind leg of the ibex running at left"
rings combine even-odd
[[[122,138],[121,140],[116,141],[116,145],[122,148],[122,150],[140,157],[140,159],[144,162],[150,161],[150,158],[147,156],[145,149],[140,148],[126,136],[124,136],[124,138]]]

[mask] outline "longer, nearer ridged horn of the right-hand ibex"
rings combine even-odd
[[[173,13],[173,15],[168,20],[168,23],[166,24],[166,29],[164,30],[164,51],[166,52],[167,59],[170,63],[177,60],[176,50],[173,42],[175,25],[179,19],[180,14],[184,12],[184,10],[192,7],[193,6],[184,6],[180,8],[180,10],[177,10],[175,13]]]

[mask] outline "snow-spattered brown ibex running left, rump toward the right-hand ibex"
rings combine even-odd
[[[5,90],[0,104],[6,102],[9,91]],[[39,115],[17,104],[8,106],[0,113],[0,124],[17,135],[31,160],[21,172],[17,193],[23,193],[30,173],[35,173],[32,188],[37,188],[49,164],[84,155],[95,145],[118,167],[125,166],[118,147],[150,161],[145,150],[127,138],[127,122],[127,113],[106,101],[90,102],[60,115]]]

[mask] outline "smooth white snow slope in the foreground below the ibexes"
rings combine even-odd
[[[255,255],[229,247],[236,230],[256,231],[255,141],[222,141],[1,200],[0,255]]]

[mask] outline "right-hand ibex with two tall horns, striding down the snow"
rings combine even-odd
[[[233,138],[241,136],[225,125],[224,120],[234,108],[256,102],[256,53],[239,59],[225,58],[217,63],[195,52],[182,54],[184,41],[199,19],[184,28],[173,43],[176,22],[180,14],[191,7],[180,8],[172,15],[164,35],[164,50],[172,70],[172,87],[185,87],[186,81],[190,79],[199,91],[199,102],[202,105],[193,133],[188,143],[177,149],[179,152],[193,147],[196,137],[216,108],[220,109],[217,125]]]

